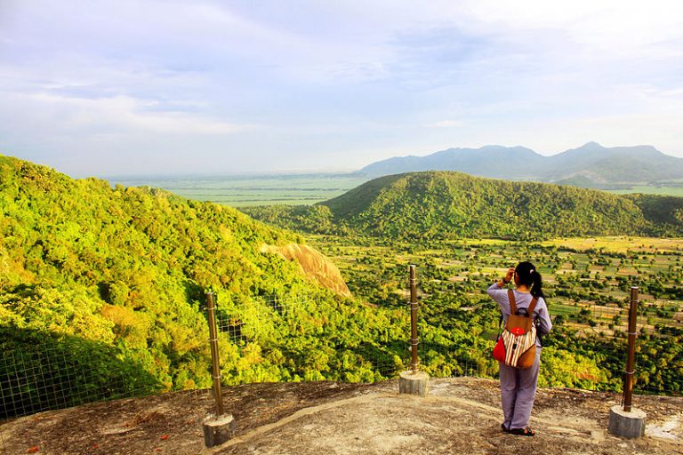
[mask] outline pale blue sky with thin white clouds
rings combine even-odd
[[[0,0],[0,155],[73,177],[589,141],[683,157],[683,2]]]

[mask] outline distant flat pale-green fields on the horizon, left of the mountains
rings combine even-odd
[[[269,174],[112,178],[112,185],[163,188],[176,195],[231,207],[316,204],[346,193],[367,179],[353,174]]]

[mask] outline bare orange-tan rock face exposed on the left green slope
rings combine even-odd
[[[287,260],[296,260],[301,272],[309,279],[337,294],[350,297],[351,291],[344,282],[339,268],[320,251],[299,243],[288,243],[285,246],[264,244],[261,251],[279,254]]]

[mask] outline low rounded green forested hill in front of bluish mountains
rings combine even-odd
[[[314,207],[246,212],[286,228],[386,238],[683,235],[683,198],[615,196],[461,172],[390,175]]]

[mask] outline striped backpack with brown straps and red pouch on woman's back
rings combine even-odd
[[[518,315],[512,290],[508,290],[508,298],[511,315],[494,347],[494,359],[514,368],[530,368],[536,358],[534,308],[538,299],[531,300],[526,315]]]

